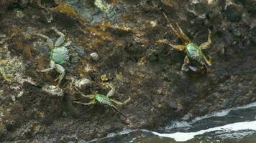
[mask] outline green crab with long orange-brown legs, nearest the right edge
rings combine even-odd
[[[211,46],[211,30],[208,29],[208,41],[204,42],[200,46],[197,46],[194,44],[191,39],[188,38],[186,34],[180,29],[180,26],[175,23],[172,24],[168,17],[163,13],[165,16],[165,19],[168,21],[168,25],[170,26],[170,29],[173,31],[173,34],[178,36],[179,39],[183,40],[183,45],[174,45],[171,44],[166,39],[158,40],[157,43],[160,44],[168,44],[169,46],[173,47],[173,49],[176,49],[178,51],[185,51],[186,57],[184,58],[184,64],[181,67],[182,71],[195,71],[199,72],[206,67],[207,71],[209,72],[209,66],[211,66],[211,58],[207,59],[204,55],[202,49],[209,49]]]

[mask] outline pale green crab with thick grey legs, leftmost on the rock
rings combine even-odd
[[[42,37],[43,39],[47,40],[47,46],[51,49],[50,51],[50,68],[40,70],[41,72],[47,72],[52,71],[53,69],[56,69],[60,76],[55,79],[55,81],[58,81],[58,84],[60,84],[61,80],[65,76],[65,69],[60,64],[65,64],[68,62],[69,59],[69,50],[66,48],[66,46],[70,46],[71,41],[68,41],[64,43],[65,41],[65,35],[58,31],[55,27],[52,27],[52,30],[55,31],[56,34],[60,35],[60,37],[55,41],[53,44],[52,39],[50,39],[48,36],[45,36],[43,34],[37,34],[37,36]]]

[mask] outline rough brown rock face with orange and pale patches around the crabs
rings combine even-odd
[[[256,101],[253,0],[109,0],[107,11],[93,2],[41,2],[45,9],[37,3],[0,3],[0,142],[87,140],[122,129],[154,129],[172,119],[193,119]],[[185,54],[156,44],[159,39],[181,44],[163,12],[196,44],[206,41],[211,29],[213,45],[205,50],[214,59],[209,74],[184,73]],[[52,26],[73,42],[60,84],[63,97],[42,91],[47,84],[58,84],[57,71],[37,72],[50,66],[50,49],[34,34],[55,41]],[[99,60],[91,59],[93,52]],[[74,79],[84,78],[92,81],[81,89],[84,94],[106,94],[109,83],[116,87],[115,99],[131,97],[119,107],[128,118],[111,109],[106,113],[101,106],[86,112],[90,107],[73,104],[88,102],[72,88]]]

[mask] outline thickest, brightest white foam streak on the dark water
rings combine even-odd
[[[206,132],[223,131],[223,132],[236,132],[240,130],[254,130],[256,131],[256,121],[252,122],[237,122],[233,124],[226,124],[220,127],[213,127],[209,129],[200,130],[198,132],[175,132],[173,134],[160,134],[158,132],[152,132],[160,137],[170,137],[177,142],[185,142],[193,139],[196,135],[204,134]]]

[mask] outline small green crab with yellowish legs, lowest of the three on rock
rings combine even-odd
[[[78,88],[76,88],[76,87],[74,87],[74,88],[76,89],[76,91],[78,91],[81,94],[82,97],[91,99],[88,103],[77,102],[77,101],[74,101],[74,103],[83,104],[83,105],[101,104],[106,107],[111,107],[112,109],[116,110],[116,112],[119,112],[119,114],[121,114],[123,117],[127,118],[114,104],[118,104],[118,105],[127,104],[127,102],[129,102],[131,98],[129,97],[124,102],[119,102],[116,99],[111,99],[110,97],[112,97],[116,92],[116,90],[113,87],[111,87],[111,90],[106,95],[104,95],[104,94],[85,95]]]

